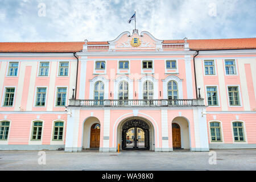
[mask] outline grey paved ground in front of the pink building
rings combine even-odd
[[[209,152],[45,151],[46,164],[39,164],[39,151],[0,151],[0,170],[256,170],[256,149]],[[210,161],[214,162],[214,160]]]

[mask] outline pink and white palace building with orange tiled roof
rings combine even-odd
[[[0,43],[0,150],[256,148],[256,39]]]

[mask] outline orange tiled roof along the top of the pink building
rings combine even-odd
[[[193,50],[255,49],[256,38],[188,39]],[[184,40],[163,40],[163,44],[184,43]],[[0,42],[0,52],[79,52],[85,42]],[[88,45],[106,45],[108,42],[87,42]]]

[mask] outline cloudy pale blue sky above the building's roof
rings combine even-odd
[[[0,0],[0,42],[113,40],[136,10],[157,39],[255,38],[255,0]]]

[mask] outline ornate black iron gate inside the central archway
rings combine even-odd
[[[133,119],[122,127],[123,150],[149,150],[149,126],[146,122]]]

